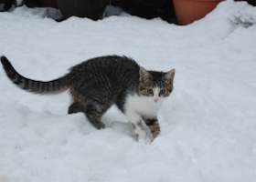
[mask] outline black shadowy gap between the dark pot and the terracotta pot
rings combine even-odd
[[[161,17],[167,22],[176,22],[172,0],[112,0],[112,5],[122,7],[131,15],[138,15],[147,19]]]

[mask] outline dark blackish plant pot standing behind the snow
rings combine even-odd
[[[110,0],[58,0],[63,19],[71,15],[98,20],[102,17]]]

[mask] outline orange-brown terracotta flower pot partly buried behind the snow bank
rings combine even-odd
[[[187,25],[201,19],[223,0],[174,0],[177,21]]]

